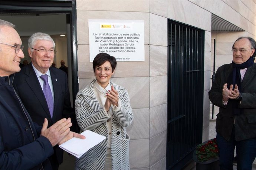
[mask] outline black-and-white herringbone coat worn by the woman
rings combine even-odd
[[[96,99],[93,84],[82,89],[76,95],[75,110],[76,119],[82,131],[88,129],[100,135],[106,136],[106,139],[88,150],[79,159],[76,159],[76,170],[103,170],[108,143],[108,130],[106,120],[109,118],[103,107]],[[112,139],[111,139],[111,157],[112,170],[129,170],[129,136],[124,127],[131,125],[133,121],[132,108],[128,92],[125,88],[110,84],[118,91],[121,100],[121,108],[114,111],[112,121]]]

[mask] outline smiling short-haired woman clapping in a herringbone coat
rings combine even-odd
[[[128,92],[110,80],[115,57],[99,53],[92,64],[96,79],[76,95],[76,119],[81,131],[91,130],[106,139],[76,159],[76,170],[129,170],[125,127],[131,125],[133,114]]]

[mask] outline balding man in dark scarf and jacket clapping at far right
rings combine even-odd
[[[232,63],[217,69],[209,91],[210,101],[220,107],[216,132],[221,170],[233,170],[235,147],[238,170],[252,169],[256,157],[255,50],[253,38],[238,38]]]

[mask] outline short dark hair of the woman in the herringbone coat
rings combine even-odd
[[[95,68],[104,64],[106,61],[109,61],[112,67],[112,72],[114,72],[116,67],[116,59],[115,57],[106,54],[106,53],[99,53],[96,55],[96,57],[93,59],[92,66],[93,66],[93,72],[95,72]]]

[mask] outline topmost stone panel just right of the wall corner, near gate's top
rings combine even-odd
[[[150,0],[150,13],[167,18],[168,0]]]

